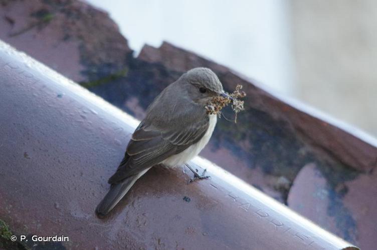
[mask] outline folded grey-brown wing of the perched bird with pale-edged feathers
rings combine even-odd
[[[132,134],[124,158],[109,183],[137,174],[198,142],[209,127],[209,117],[205,112],[195,116],[193,119],[177,115],[163,126],[156,126],[153,119],[143,120]]]

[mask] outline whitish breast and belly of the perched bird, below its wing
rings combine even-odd
[[[195,144],[187,147],[182,152],[178,154],[171,155],[170,157],[163,160],[161,163],[165,164],[167,166],[180,166],[188,161],[190,161],[192,158],[197,156],[202,149],[207,145],[208,141],[211,138],[211,135],[215,129],[217,122],[217,115],[216,114],[210,114],[210,121],[209,126],[206,131],[206,133],[203,135],[203,137]]]

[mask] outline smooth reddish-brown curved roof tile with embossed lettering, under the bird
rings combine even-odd
[[[0,41],[0,219],[78,249],[357,249],[197,157],[154,167],[106,218],[95,207],[138,121]]]

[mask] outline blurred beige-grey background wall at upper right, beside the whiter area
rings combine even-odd
[[[295,96],[377,135],[377,1],[290,0]]]

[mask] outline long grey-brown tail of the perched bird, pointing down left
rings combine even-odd
[[[111,184],[110,190],[102,199],[102,201],[98,204],[96,212],[101,215],[106,215],[123,198],[123,196],[133,186],[136,180],[147,170],[148,169],[138,174],[129,176],[121,182]]]

